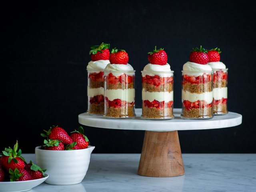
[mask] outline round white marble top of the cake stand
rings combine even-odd
[[[181,109],[174,109],[173,120],[151,121],[140,118],[142,109],[136,109],[135,119],[105,119],[102,116],[90,116],[82,113],[78,116],[78,121],[82,125],[126,130],[148,130],[148,131],[175,131],[175,130],[198,130],[216,129],[240,125],[242,115],[228,112],[226,115],[214,116],[209,120],[184,120],[180,118]]]

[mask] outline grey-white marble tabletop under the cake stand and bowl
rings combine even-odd
[[[34,154],[23,154],[35,162]],[[92,154],[82,183],[42,183],[31,192],[254,192],[256,154],[182,154],[185,175],[168,178],[137,174],[140,154]]]

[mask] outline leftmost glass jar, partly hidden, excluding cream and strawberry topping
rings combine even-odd
[[[104,72],[102,69],[87,69],[87,114],[104,114]]]

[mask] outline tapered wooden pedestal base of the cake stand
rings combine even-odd
[[[148,177],[185,174],[178,131],[145,131],[138,174]]]

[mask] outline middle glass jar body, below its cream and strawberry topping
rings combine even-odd
[[[142,72],[143,120],[173,119],[173,72]]]

